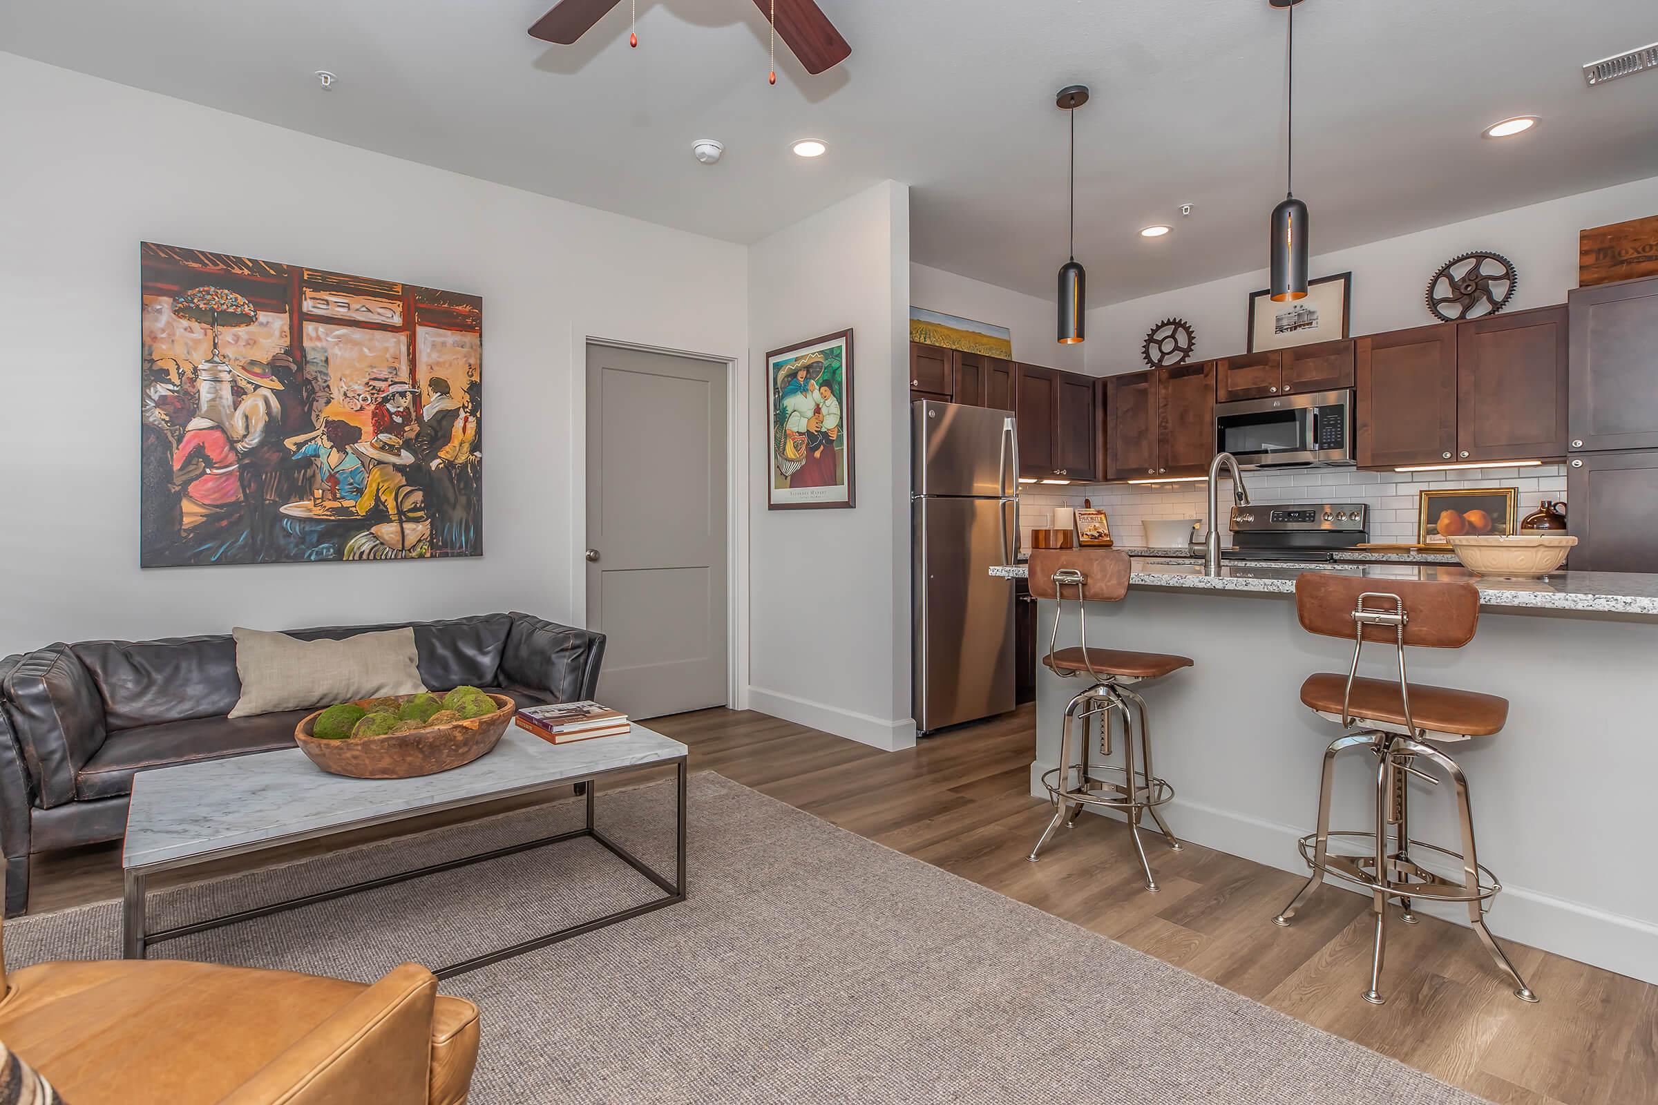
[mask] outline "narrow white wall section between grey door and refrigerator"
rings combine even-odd
[[[749,475],[753,709],[875,747],[915,742],[910,719],[909,187],[884,181],[748,252],[749,363],[852,328],[856,507],[768,510],[759,409]],[[807,263],[809,262],[809,263]],[[751,371],[751,404],[763,406]]]

